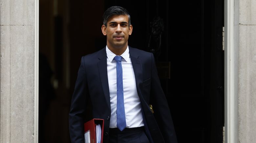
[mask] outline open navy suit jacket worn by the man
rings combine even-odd
[[[160,85],[153,54],[130,46],[129,54],[141,102],[146,135],[151,143],[177,143],[170,110]],[[104,119],[103,142],[107,143],[111,108],[106,47],[81,58],[69,113],[72,143],[84,143],[83,124],[88,102],[92,105],[93,118]],[[152,104],[154,114],[149,104]]]

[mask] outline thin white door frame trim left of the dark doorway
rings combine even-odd
[[[38,143],[39,0],[35,0],[34,143]]]

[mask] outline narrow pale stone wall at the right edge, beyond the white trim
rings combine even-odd
[[[256,140],[256,0],[239,0],[239,143]]]

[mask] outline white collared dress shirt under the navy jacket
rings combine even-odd
[[[114,59],[115,55],[106,46],[107,52],[107,70],[108,70],[108,85],[110,93],[110,128],[117,128],[117,62]],[[133,65],[127,46],[122,58],[123,71],[123,98],[124,110],[126,119],[126,128],[135,128],[144,126],[143,117],[141,113],[141,105],[139,95],[136,88],[135,75]]]

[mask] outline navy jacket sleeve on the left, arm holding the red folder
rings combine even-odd
[[[69,112],[69,132],[72,143],[84,143],[84,115],[87,96],[88,86],[84,57],[82,57]]]

